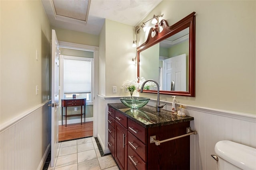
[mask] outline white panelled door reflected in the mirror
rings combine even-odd
[[[186,54],[178,55],[164,60],[164,86],[163,90],[186,91]]]

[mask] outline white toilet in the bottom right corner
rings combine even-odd
[[[256,149],[232,141],[219,141],[211,155],[217,170],[256,170]]]

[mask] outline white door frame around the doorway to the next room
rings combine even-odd
[[[97,46],[91,46],[91,45],[83,45],[83,44],[77,44],[77,43],[69,43],[65,41],[58,41],[59,47],[65,47],[65,48],[72,48],[72,49],[79,49],[79,50],[87,50],[94,52],[94,88],[93,88],[93,137],[97,137],[98,134],[98,63],[99,63],[99,47]],[[61,76],[60,76],[61,77]],[[60,80],[63,81],[63,80]],[[61,83],[60,83],[61,84]],[[63,87],[60,87],[61,90],[63,90]],[[60,92],[60,94],[62,94]]]

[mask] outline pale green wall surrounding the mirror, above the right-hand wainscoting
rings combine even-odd
[[[163,0],[142,22],[164,14],[162,19],[172,25],[192,12],[196,12],[196,97],[177,96],[177,101],[256,114],[256,1]],[[145,33],[139,34],[140,44],[144,41]],[[171,95],[160,99],[172,101]]]

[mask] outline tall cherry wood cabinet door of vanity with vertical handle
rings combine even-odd
[[[115,123],[116,131],[116,162],[121,170],[127,169],[127,129],[120,123]]]

